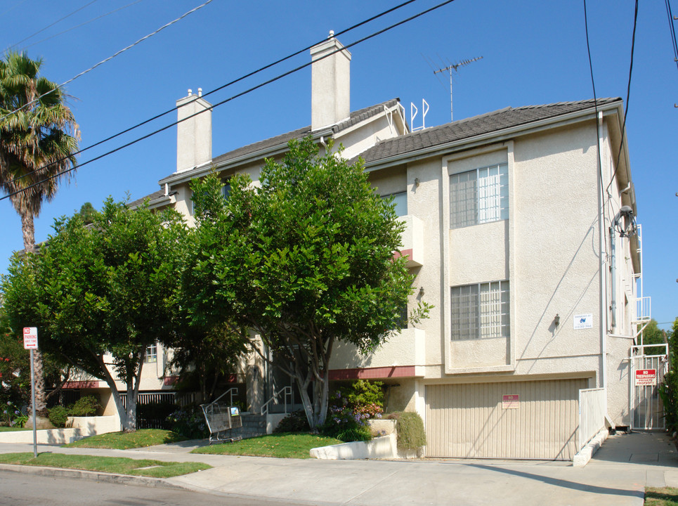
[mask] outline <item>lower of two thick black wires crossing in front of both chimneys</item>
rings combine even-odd
[[[455,1],[455,0],[445,0],[445,1],[441,2],[440,4],[437,4],[437,5],[433,6],[433,7],[427,8],[426,10],[421,11],[421,12],[415,14],[415,15],[412,15],[412,16],[410,16],[409,18],[406,18],[405,20],[401,20],[401,21],[399,21],[399,22],[396,22],[396,23],[394,23],[393,25],[390,25],[390,26],[388,26],[388,27],[386,27],[386,28],[383,28],[382,30],[378,30],[377,32],[374,32],[374,33],[372,33],[372,34],[370,34],[370,35],[367,35],[367,37],[363,37],[362,39],[358,39],[357,41],[355,41],[355,42],[353,42],[353,43],[351,43],[351,44],[348,44],[348,45],[344,46],[344,48],[339,48],[339,49],[336,49],[336,50],[334,50],[334,51],[331,51],[330,53],[327,53],[327,54],[323,55],[322,57],[317,58],[315,61],[322,60],[322,59],[324,59],[324,58],[328,58],[328,57],[332,56],[334,53],[338,53],[339,51],[344,51],[344,49],[348,49],[348,48],[351,48],[351,47],[356,46],[356,45],[358,45],[358,44],[361,44],[361,43],[363,43],[364,41],[367,41],[367,40],[369,40],[369,39],[372,39],[372,38],[374,38],[374,37],[377,37],[378,35],[383,34],[384,32],[388,32],[389,30],[392,30],[393,28],[396,28],[396,27],[398,27],[398,26],[400,26],[400,25],[404,25],[404,24],[407,23],[407,22],[410,22],[410,21],[412,21],[412,20],[415,20],[416,18],[419,18],[419,17],[421,17],[422,15],[428,14],[428,13],[430,13],[430,12],[432,12],[432,11],[436,11],[436,9],[438,9],[438,8],[441,8],[441,7],[443,7],[443,6],[446,6],[446,5],[448,5],[448,4],[451,4],[453,1]],[[241,96],[243,96],[243,95],[246,95],[247,93],[251,93],[252,91],[255,91],[256,89],[259,89],[259,88],[261,88],[261,87],[263,87],[263,86],[266,86],[266,85],[268,85],[268,84],[270,84],[270,83],[273,83],[273,82],[275,82],[275,81],[278,81],[278,80],[282,79],[283,77],[287,77],[289,74],[293,74],[294,72],[299,72],[299,70],[304,69],[304,68],[306,68],[306,67],[308,67],[308,66],[310,66],[310,65],[313,65],[313,62],[308,62],[308,63],[306,63],[306,64],[304,64],[304,65],[299,65],[299,67],[296,67],[296,68],[294,68],[294,69],[292,69],[292,70],[289,70],[289,71],[287,71],[287,72],[285,72],[285,73],[283,73],[283,74],[279,74],[278,76],[273,77],[272,79],[268,79],[267,81],[265,81],[265,82],[263,82],[263,83],[261,83],[261,84],[257,84],[256,86],[252,86],[252,88],[249,88],[249,89],[247,89],[247,90],[245,90],[245,91],[242,91],[242,92],[240,92],[240,93],[237,93],[237,94],[235,94],[235,95],[233,95],[233,96],[231,96],[231,97],[229,97],[229,98],[226,98],[225,100],[221,100],[221,102],[218,102],[218,103],[212,105],[211,108],[212,108],[212,109],[217,108],[217,107],[219,107],[219,105],[223,105],[223,104],[225,104],[225,103],[230,102],[231,100],[235,100],[235,98],[239,98],[239,97],[241,97]],[[190,118],[192,118],[192,117],[195,117],[195,116],[197,116],[197,115],[199,115],[199,114],[201,114],[201,113],[202,113],[202,111],[201,111],[201,112],[196,112],[196,113],[193,114],[193,115],[187,116],[187,117],[185,117],[185,118],[183,118],[183,119],[180,119],[180,120],[178,120],[178,121],[176,121],[176,122],[172,122],[171,124],[168,124],[168,125],[166,125],[166,126],[163,126],[163,127],[160,128],[160,129],[157,129],[157,130],[155,130],[155,131],[152,131],[150,134],[146,134],[145,136],[141,136],[141,137],[139,137],[139,138],[136,138],[135,140],[130,141],[129,143],[126,143],[126,144],[124,144],[124,145],[122,145],[122,146],[119,146],[118,148],[115,148],[115,149],[112,149],[112,150],[110,150],[110,151],[107,151],[107,153],[103,153],[103,155],[99,155],[98,157],[94,157],[94,158],[92,158],[92,159],[90,159],[90,160],[87,160],[86,162],[83,162],[82,164],[79,164],[77,167],[83,167],[83,166],[86,165],[86,164],[90,164],[91,162],[95,162],[96,160],[100,160],[100,159],[103,158],[103,157],[106,157],[106,156],[108,156],[108,155],[112,155],[113,153],[117,153],[117,151],[119,151],[119,150],[123,150],[124,148],[128,148],[129,146],[131,146],[131,145],[133,145],[133,144],[136,144],[136,143],[138,143],[138,142],[140,142],[140,141],[143,141],[143,140],[145,140],[145,139],[147,139],[147,138],[149,138],[149,137],[151,137],[151,136],[154,136],[155,134],[159,134],[160,132],[165,131],[165,130],[171,128],[172,126],[175,126],[176,124],[179,124],[179,123],[181,123],[181,122],[184,122],[184,121],[186,121],[186,120],[188,120],[188,119],[190,119]],[[55,162],[55,163],[56,163],[56,162]],[[10,194],[8,194],[8,195],[4,195],[4,197],[0,197],[0,200],[5,200],[5,199],[8,198],[8,197],[12,197],[13,195],[16,195],[16,194],[18,194],[18,193],[22,193],[22,192],[24,192],[24,191],[26,191],[26,190],[30,190],[30,188],[33,188],[34,186],[38,186],[39,184],[46,183],[47,181],[50,181],[51,179],[56,179],[57,177],[62,176],[63,174],[67,174],[68,172],[74,171],[77,167],[71,167],[70,169],[66,169],[66,170],[60,171],[60,172],[58,172],[58,173],[56,173],[56,174],[52,174],[51,176],[46,177],[46,178],[43,179],[42,181],[37,181],[36,183],[33,183],[33,184],[31,184],[30,186],[27,186],[26,188],[22,188],[21,190],[15,191],[14,193],[10,193]]]

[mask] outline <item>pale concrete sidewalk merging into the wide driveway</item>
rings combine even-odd
[[[135,450],[40,445],[39,451],[205,462],[212,469],[158,485],[311,505],[634,505],[644,487],[678,486],[678,453],[665,434],[611,436],[586,467],[506,460],[294,460],[188,453],[195,442]],[[32,451],[1,444],[0,453]],[[22,469],[27,469],[23,467]]]

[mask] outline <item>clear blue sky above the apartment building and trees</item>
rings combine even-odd
[[[133,1],[6,0],[0,5],[0,46],[8,48],[85,6],[16,46],[32,58],[43,58],[44,75],[61,83],[202,4],[202,0],[141,0],[122,8]],[[82,129],[82,146],[173,107],[189,88],[207,92],[319,41],[329,30],[339,32],[397,3],[214,0],[67,86]],[[340,39],[350,44],[437,3],[419,0]],[[117,8],[122,9],[59,34]],[[596,94],[626,99],[634,4],[599,0],[589,1],[588,8]],[[678,15],[675,0],[672,8]],[[51,38],[44,40],[47,37]],[[671,44],[664,3],[641,2],[627,135],[638,221],[643,226],[644,292],[651,295],[653,317],[660,324],[678,316],[678,108],[674,108],[678,68]],[[421,104],[425,98],[431,106],[427,126],[450,119],[447,79],[434,76],[427,60],[441,67],[448,61],[483,56],[455,77],[455,119],[507,106],[593,97],[582,1],[457,0],[354,46],[351,53],[352,110],[400,97],[409,115],[410,102]],[[209,100],[228,98],[309,58],[304,53]],[[311,72],[305,69],[216,108],[214,155],[310,124],[310,91]],[[168,115],[105,148],[174,119],[174,114]],[[103,152],[95,148],[79,160]],[[131,199],[152,193],[159,189],[157,181],[175,167],[175,128],[82,167],[44,205],[36,239],[46,239],[56,216],[70,215],[84,202],[98,208],[108,195],[121,200],[128,193]],[[8,257],[22,248],[22,235],[8,200],[0,201],[0,214],[0,272],[5,272]]]

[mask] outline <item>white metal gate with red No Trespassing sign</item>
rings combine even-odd
[[[631,429],[664,429],[664,406],[659,385],[664,382],[667,354],[645,355],[645,348],[657,351],[666,344],[634,346],[631,357]],[[639,354],[636,354],[639,353]],[[650,371],[644,374],[644,371]],[[654,371],[654,379],[652,377]]]

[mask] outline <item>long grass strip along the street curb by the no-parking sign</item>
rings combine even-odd
[[[33,458],[32,453],[0,454],[0,464],[32,465],[47,467],[63,467],[66,469],[84,469],[132,476],[152,476],[154,478],[171,478],[181,474],[209,469],[211,466],[202,462],[160,462],[159,460],[135,460],[122,457],[96,457],[94,455],[61,455],[59,453],[39,453]]]

